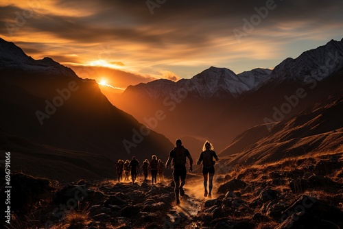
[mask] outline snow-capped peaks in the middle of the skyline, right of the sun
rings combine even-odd
[[[156,99],[169,95],[191,95],[199,99],[239,97],[243,93],[258,88],[268,80],[270,69],[254,69],[236,75],[226,68],[210,67],[193,76],[178,82],[170,80],[154,80],[147,84],[129,86],[123,95],[130,93],[146,93]]]

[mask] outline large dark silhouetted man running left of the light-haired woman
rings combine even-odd
[[[174,184],[175,184],[175,199],[176,205],[180,204],[179,194],[180,196],[185,195],[185,191],[183,190],[183,186],[185,185],[187,170],[186,170],[186,162],[187,158],[189,159],[189,171],[192,171],[193,167],[193,159],[191,154],[189,154],[188,149],[183,147],[181,139],[176,140],[176,147],[171,149],[169,152],[169,157],[167,162],[165,163],[165,167],[168,168],[170,165],[171,160],[173,160],[173,177],[174,177]],[[181,184],[180,184],[181,180]]]

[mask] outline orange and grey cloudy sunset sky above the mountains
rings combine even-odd
[[[343,37],[343,1],[0,0],[0,35],[126,88],[211,66],[273,68]]]

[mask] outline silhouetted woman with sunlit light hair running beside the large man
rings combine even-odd
[[[200,153],[197,165],[202,162],[202,175],[204,176],[204,196],[207,196],[207,176],[209,175],[209,197],[211,197],[213,188],[213,176],[215,173],[214,160],[219,160],[217,154],[213,151],[213,145],[206,141],[202,147],[202,152]]]

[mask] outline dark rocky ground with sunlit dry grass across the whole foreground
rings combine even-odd
[[[215,176],[212,199],[190,174],[180,206],[168,179],[60,184],[16,173],[8,228],[343,228],[342,155],[237,167]]]

